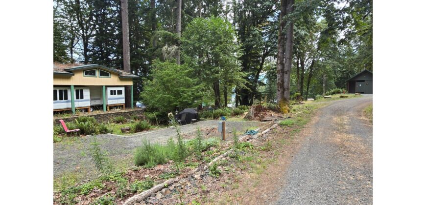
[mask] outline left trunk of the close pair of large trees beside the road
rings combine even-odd
[[[284,98],[284,16],[286,15],[287,0],[281,0],[280,5],[280,27],[278,29],[278,51],[277,51],[277,102]]]

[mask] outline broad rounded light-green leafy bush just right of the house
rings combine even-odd
[[[194,70],[187,63],[154,61],[152,66],[152,80],[145,80],[141,93],[146,106],[170,112],[176,107],[194,107],[201,102],[204,86],[196,83]]]

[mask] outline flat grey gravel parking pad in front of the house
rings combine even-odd
[[[217,132],[218,120],[201,121],[194,124],[180,126],[182,135],[185,139],[195,137],[197,126],[200,127],[204,138],[219,137]],[[256,129],[264,123],[260,122],[226,122],[227,140],[232,139],[232,130],[235,128],[239,133],[247,129]],[[213,131],[206,136],[206,132]],[[115,162],[123,162],[125,165],[131,165],[133,160],[132,151],[135,147],[142,144],[142,139],[148,139],[155,143],[166,143],[170,137],[176,136],[175,128],[162,128],[137,133],[130,136],[121,136],[113,134],[97,135],[102,150],[107,151],[108,157]],[[92,136],[83,137],[72,143],[54,143],[53,145],[53,176],[58,177],[67,172],[80,174],[84,178],[95,176],[95,167],[92,164],[88,150]]]

